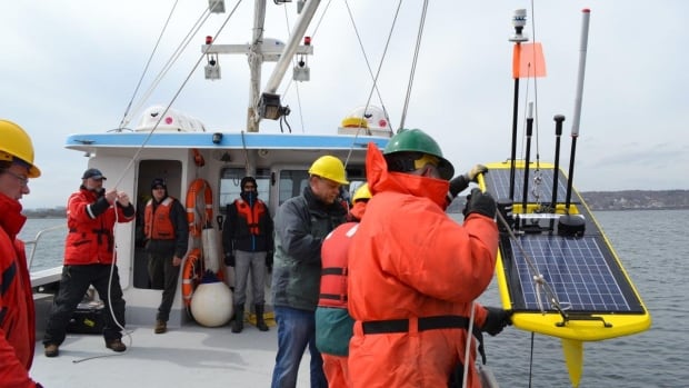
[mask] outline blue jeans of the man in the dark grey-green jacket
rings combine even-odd
[[[313,311],[274,307],[278,322],[278,355],[272,371],[271,388],[294,388],[303,351],[311,354],[311,388],[327,388],[323,359],[316,349],[316,319]]]

